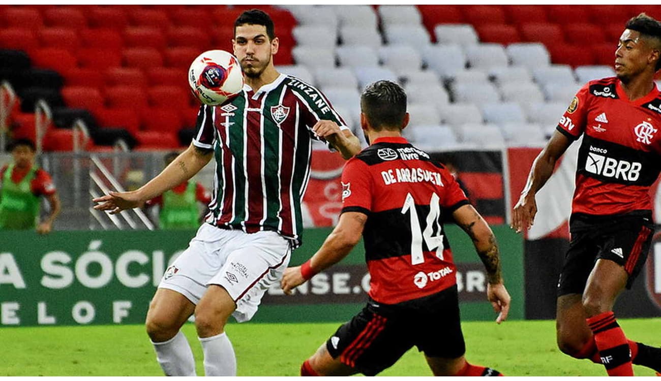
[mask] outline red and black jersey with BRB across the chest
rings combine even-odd
[[[630,102],[615,77],[582,87],[557,126],[578,151],[572,213],[613,215],[652,209],[650,186],[661,169],[661,95]]]

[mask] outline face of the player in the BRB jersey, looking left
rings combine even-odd
[[[615,50],[615,75],[621,81],[629,81],[642,73],[649,63],[652,50],[642,40],[641,33],[625,29]]]

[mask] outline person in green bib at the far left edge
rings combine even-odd
[[[13,160],[0,170],[0,230],[36,229],[47,234],[60,211],[53,180],[34,163],[36,148],[29,139],[17,139],[8,151]],[[50,204],[50,213],[41,222],[40,197]]]

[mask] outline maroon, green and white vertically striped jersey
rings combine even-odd
[[[274,230],[301,243],[301,200],[310,176],[312,127],[332,120],[348,129],[319,90],[281,74],[231,103],[202,106],[193,144],[215,151],[205,221],[247,233]]]

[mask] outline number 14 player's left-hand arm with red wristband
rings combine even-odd
[[[358,244],[368,216],[360,212],[345,212],[340,215],[340,222],[335,226],[324,244],[307,262],[300,266],[288,267],[282,275],[280,287],[286,294],[301,285],[342,258],[346,257],[351,249]]]

